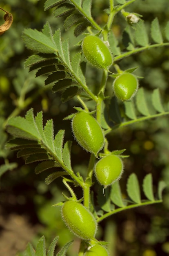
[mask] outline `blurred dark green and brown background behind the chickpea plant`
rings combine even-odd
[[[62,103],[59,93],[52,94],[50,86],[44,87],[45,77],[35,78],[34,72],[29,73],[24,68],[24,61],[31,54],[21,38],[24,28],[40,30],[49,21],[53,31],[60,27],[62,36],[69,37],[70,47],[80,40],[80,37],[73,36],[72,29],[64,31],[62,18],[54,18],[51,10],[43,10],[43,5],[44,1],[37,0],[0,2],[0,7],[13,14],[11,28],[0,36],[0,248],[6,242],[8,245],[0,256],[14,256],[17,252],[21,256],[27,242],[31,240],[36,244],[42,234],[47,244],[59,235],[59,247],[73,239],[60,220],[60,210],[51,207],[64,199],[62,183],[57,180],[57,184],[53,182],[47,186],[44,184],[46,175],[36,176],[33,164],[25,166],[22,158],[16,158],[15,152],[4,148],[8,139],[4,130],[7,119],[15,115],[24,116],[31,107],[34,112],[43,110],[44,122],[53,118],[55,133],[66,129],[65,139],[73,140],[69,122],[62,119],[73,112],[73,106],[78,106],[78,102],[73,99]],[[93,0],[92,15],[101,25],[107,21],[103,10],[108,6],[109,1]],[[169,20],[168,0],[137,0],[126,10],[141,14],[148,31],[154,18],[158,17],[161,27],[165,27]],[[3,15],[0,12],[0,24],[3,23]],[[123,24],[125,28],[125,19],[119,14],[113,25],[119,41],[125,33]],[[73,51],[76,51],[75,47]],[[145,88],[147,97],[152,89],[159,88],[162,101],[169,105],[169,48],[151,49],[120,62],[124,70],[133,66],[139,66],[136,74],[144,77],[140,79],[140,85]],[[88,72],[90,83],[97,85],[98,71],[91,68]],[[108,83],[108,90],[109,86]],[[108,137],[109,150],[127,148],[126,155],[130,155],[125,159],[125,172],[120,181],[124,196],[127,177],[132,172],[137,174],[140,184],[147,173],[152,173],[155,193],[159,180],[165,180],[169,186],[168,117],[128,126]],[[72,164],[75,169],[80,167],[81,174],[86,171],[88,157],[88,153],[73,142]],[[7,169],[9,171],[6,172]],[[97,185],[94,189],[98,189]],[[18,227],[20,233],[17,233]],[[24,236],[25,232],[30,236]],[[98,238],[109,242],[111,256],[169,255],[169,190],[165,190],[163,204],[124,211],[103,221]],[[77,255],[79,241],[75,239],[77,243],[69,248],[68,256]]]

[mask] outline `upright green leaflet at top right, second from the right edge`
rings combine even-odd
[[[155,43],[163,43],[163,39],[162,39],[162,34],[161,34],[158,18],[155,18],[151,22],[151,37],[153,38]]]

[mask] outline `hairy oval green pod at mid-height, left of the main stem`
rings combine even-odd
[[[80,146],[97,156],[104,145],[104,135],[96,119],[84,111],[78,112],[73,117],[71,125]]]

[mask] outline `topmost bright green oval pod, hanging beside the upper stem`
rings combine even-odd
[[[82,42],[82,50],[87,60],[97,68],[108,69],[113,63],[109,48],[98,36],[86,36]]]

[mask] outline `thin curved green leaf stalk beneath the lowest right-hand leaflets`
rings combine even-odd
[[[114,211],[110,211],[108,213],[105,213],[103,216],[98,218],[96,221],[99,223],[100,221],[104,220],[105,218],[107,218],[107,217],[109,217],[109,216],[111,216],[115,213],[118,213],[120,211],[124,211],[124,210],[127,210],[127,209],[132,209],[132,208],[139,207],[139,206],[149,205],[149,204],[161,203],[161,202],[162,202],[162,200],[156,200],[156,201],[143,202],[141,204],[131,204],[127,207],[121,207],[121,208],[118,208]]]

